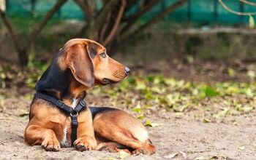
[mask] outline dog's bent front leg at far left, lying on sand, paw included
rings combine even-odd
[[[61,145],[52,129],[29,125],[25,130],[25,142],[29,145],[42,145],[45,151],[59,151]]]

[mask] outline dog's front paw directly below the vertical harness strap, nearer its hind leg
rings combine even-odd
[[[91,136],[78,137],[74,142],[75,148],[78,151],[88,151],[96,148],[97,142]]]

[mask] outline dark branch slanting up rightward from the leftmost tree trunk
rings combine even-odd
[[[53,15],[55,14],[55,12],[57,10],[59,10],[61,8],[61,6],[66,2],[67,0],[58,0],[56,2],[56,4],[53,6],[53,8],[51,8],[47,14],[45,15],[45,17],[43,18],[43,20],[36,25],[31,33],[29,34],[29,38],[27,40],[27,44],[26,44],[26,48],[29,48],[31,43],[36,39],[37,35],[40,33],[40,31],[42,31],[42,28],[44,28],[44,26],[48,23],[48,21],[50,20],[51,17],[53,17]]]

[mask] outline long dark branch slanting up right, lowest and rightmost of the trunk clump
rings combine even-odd
[[[148,28],[151,25],[154,25],[159,20],[161,20],[165,15],[167,15],[169,12],[173,12],[178,7],[181,7],[181,5],[185,4],[187,0],[178,0],[174,4],[170,5],[170,7],[167,7],[166,9],[162,10],[162,12],[159,13],[156,17],[152,18],[151,20],[148,20],[147,23],[141,25],[137,30],[135,30],[132,33],[125,33],[121,35],[121,41],[129,41],[130,38],[134,39],[135,36],[140,35],[140,33],[145,29]]]

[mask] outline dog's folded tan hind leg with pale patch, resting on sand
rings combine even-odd
[[[94,119],[94,132],[107,140],[133,148],[134,154],[153,154],[156,150],[140,121],[124,111],[99,113]]]

